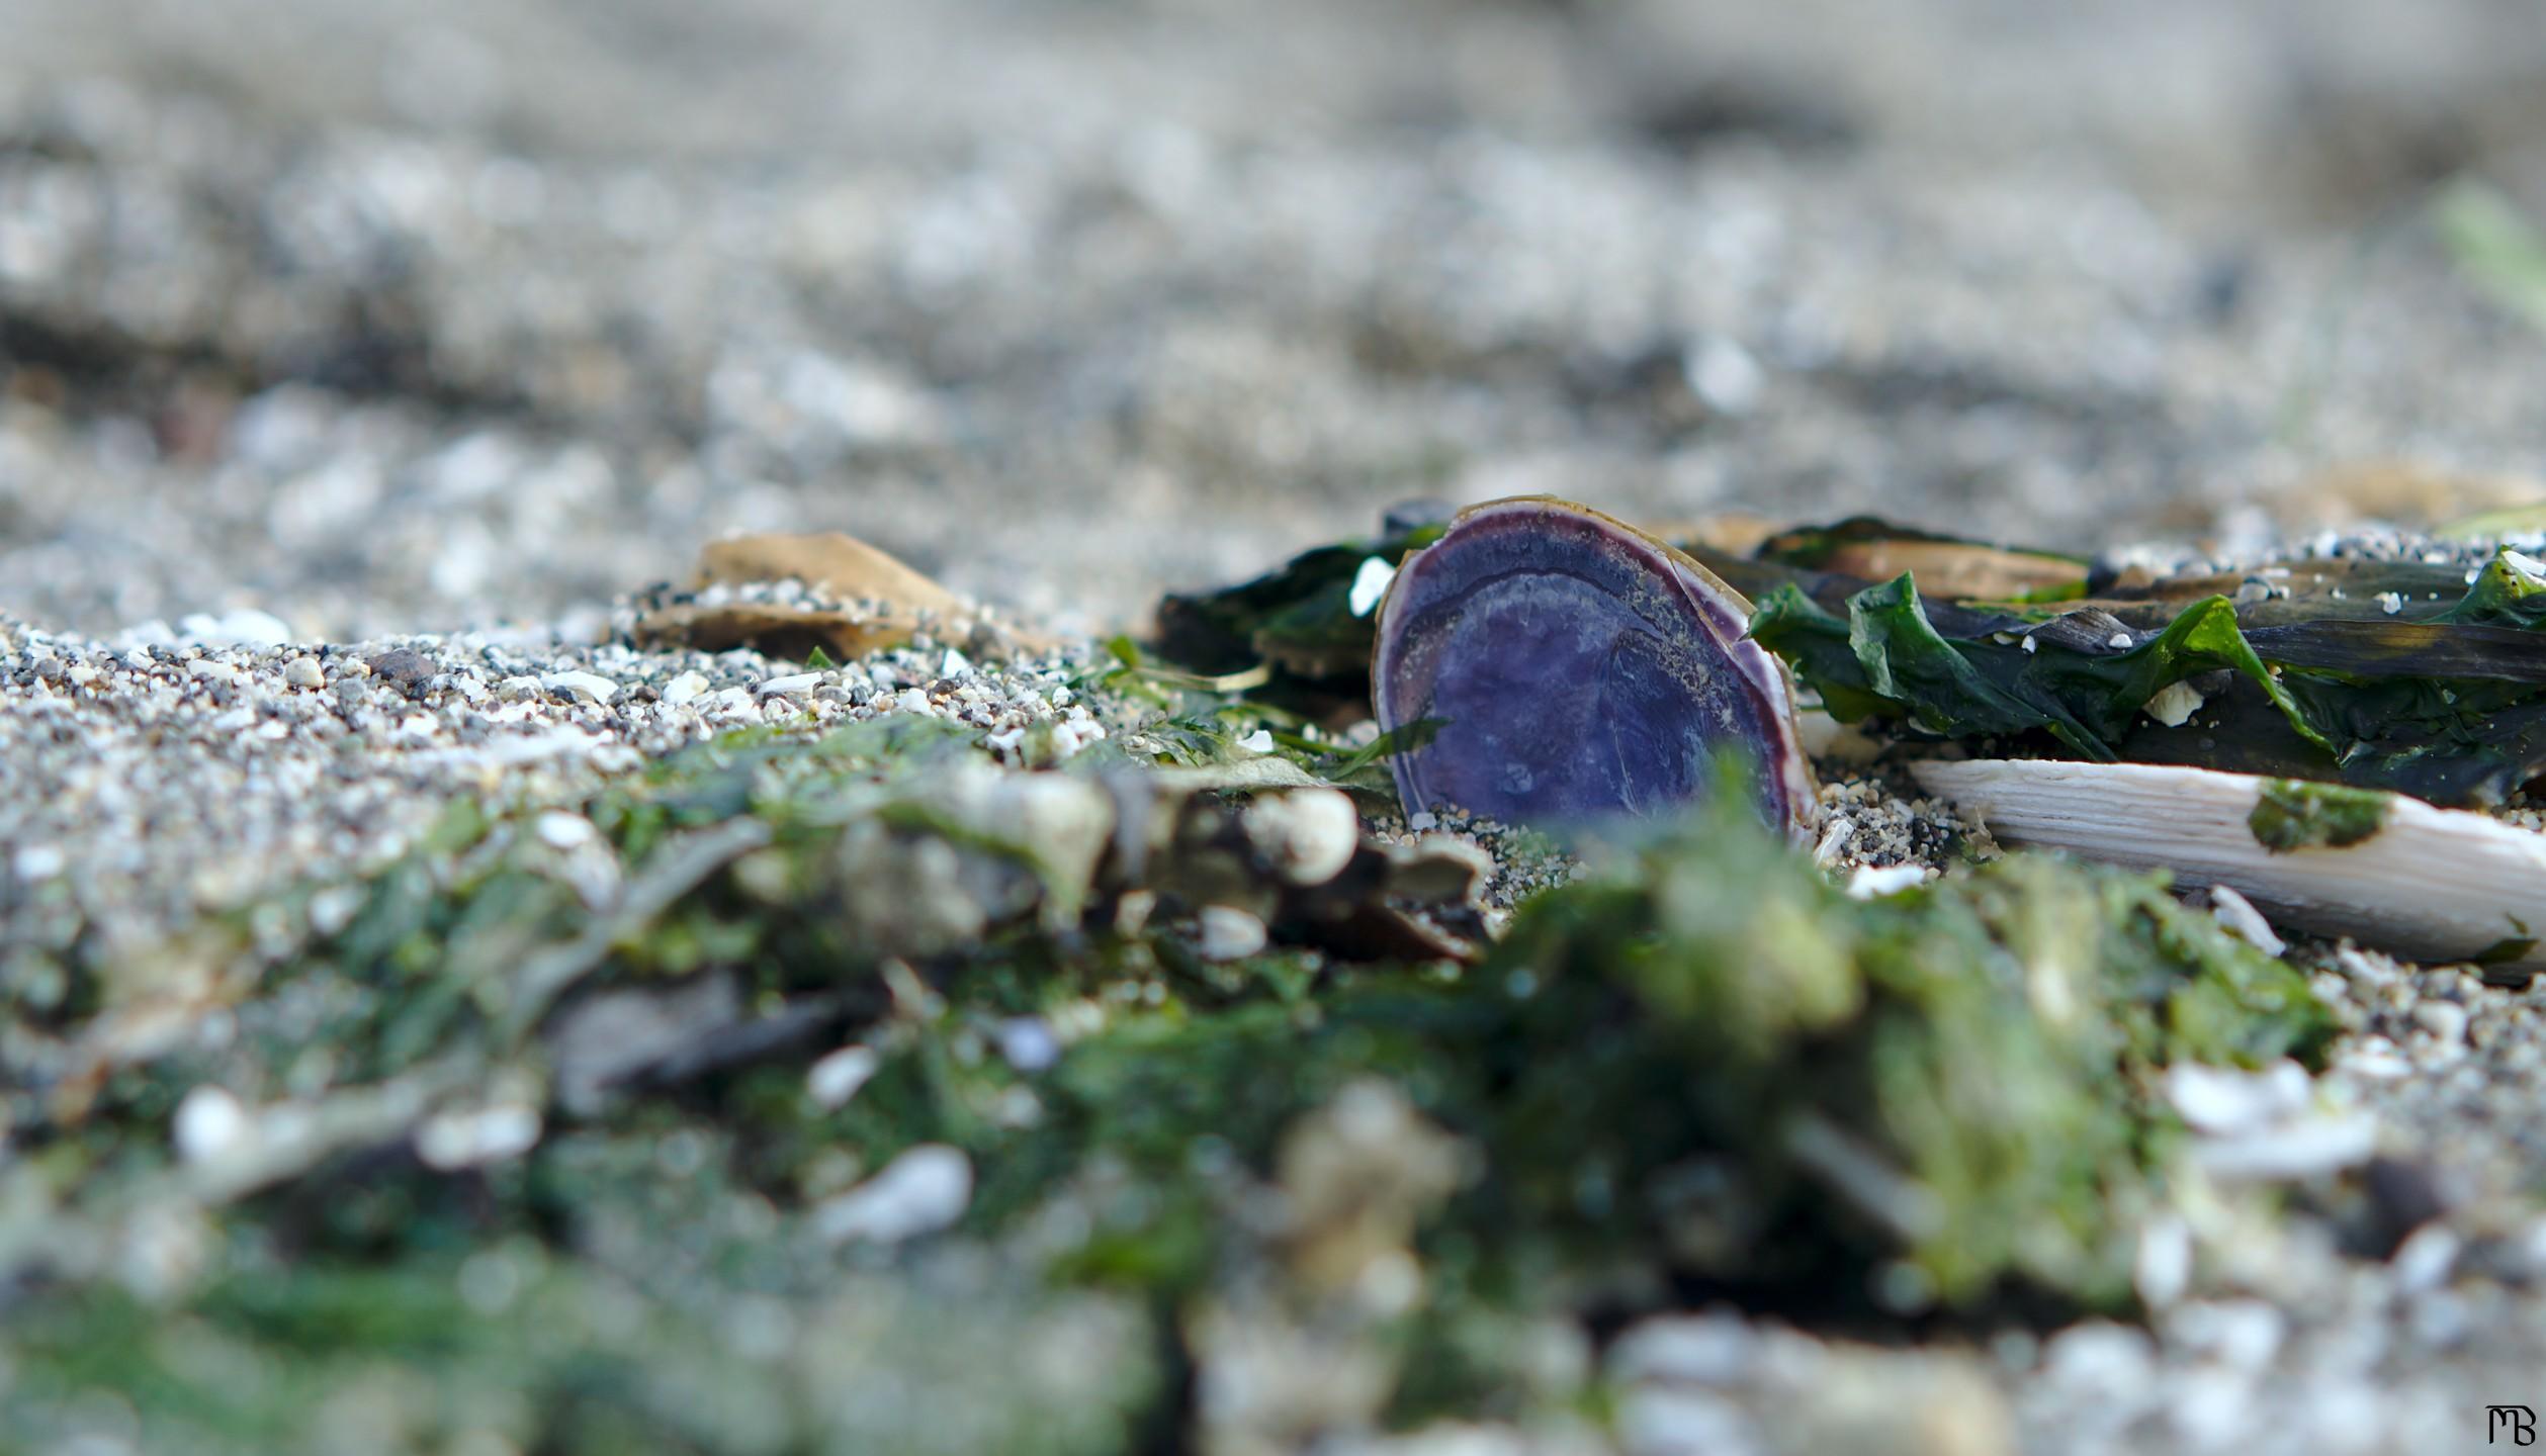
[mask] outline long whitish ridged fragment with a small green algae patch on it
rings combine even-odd
[[[2546,967],[2546,835],[2482,815],[2162,764],[1981,759],[1912,774],[2006,843],[2169,868],[2274,924],[2409,960]]]

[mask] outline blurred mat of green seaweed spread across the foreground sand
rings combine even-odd
[[[69,1441],[107,1400],[186,1453],[326,1448],[356,1418],[382,1451],[1186,1448],[1197,1331],[1278,1319],[1398,1369],[1398,1420],[1528,1415],[1591,1400],[1538,1382],[1533,1331],[1691,1280],[1884,1319],[2011,1291],[2128,1311],[2177,1143],[2154,1069],[2314,1059],[2332,1031],[2162,878],[2009,858],[1856,901],[1731,807],[1538,893],[1474,967],[1204,962],[1171,927],[1026,909],[911,965],[845,939],[843,835],[978,769],[906,723],[659,764],[583,807],[626,896],[659,893],[631,921],[524,817],[453,812],[339,932],[255,965],[229,1039],[115,1072],[76,1120],[10,1092],[0,1428]],[[883,832],[967,883],[1036,876],[942,809]],[[560,947],[596,947],[578,990],[672,1016],[713,972],[738,1003],[682,1013],[680,1069],[575,1100],[570,1046],[517,1031]],[[1049,1061],[1001,1051],[1016,1018]],[[843,1041],[873,1074],[817,1102],[807,1064]],[[168,1153],[206,1082],[351,1133],[206,1194]],[[346,1117],[402,1089],[509,1089],[545,1130],[440,1168]],[[1352,1097],[1403,1107],[1395,1140],[1316,1186],[1301,1148],[1367,1125],[1334,1117]],[[922,1143],[970,1161],[955,1229],[833,1247],[830,1199]],[[153,1288],[81,1252],[148,1229],[196,1229]],[[1354,1313],[1380,1255],[1421,1270],[1413,1303]]]

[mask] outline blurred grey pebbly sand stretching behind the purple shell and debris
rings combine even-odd
[[[2546,471],[2528,0],[0,33],[0,611],[59,629],[578,624],[738,527],[1110,626],[1426,494],[2251,545]]]

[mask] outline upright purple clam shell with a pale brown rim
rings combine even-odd
[[[1556,499],[1474,507],[1380,606],[1380,728],[1441,720],[1393,759],[1398,797],[1512,822],[1650,817],[1703,799],[1739,748],[1762,820],[1803,837],[1815,797],[1792,692],[1747,626],[1741,593],[1624,522]]]

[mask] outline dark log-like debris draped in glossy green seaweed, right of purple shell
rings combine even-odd
[[[2500,804],[2546,771],[2546,565],[2330,557],[2121,575],[2057,611],[1950,601],[1902,573],[1775,585],[1752,636],[1841,720],[2029,738]],[[1843,593],[1843,596],[1841,596]]]

